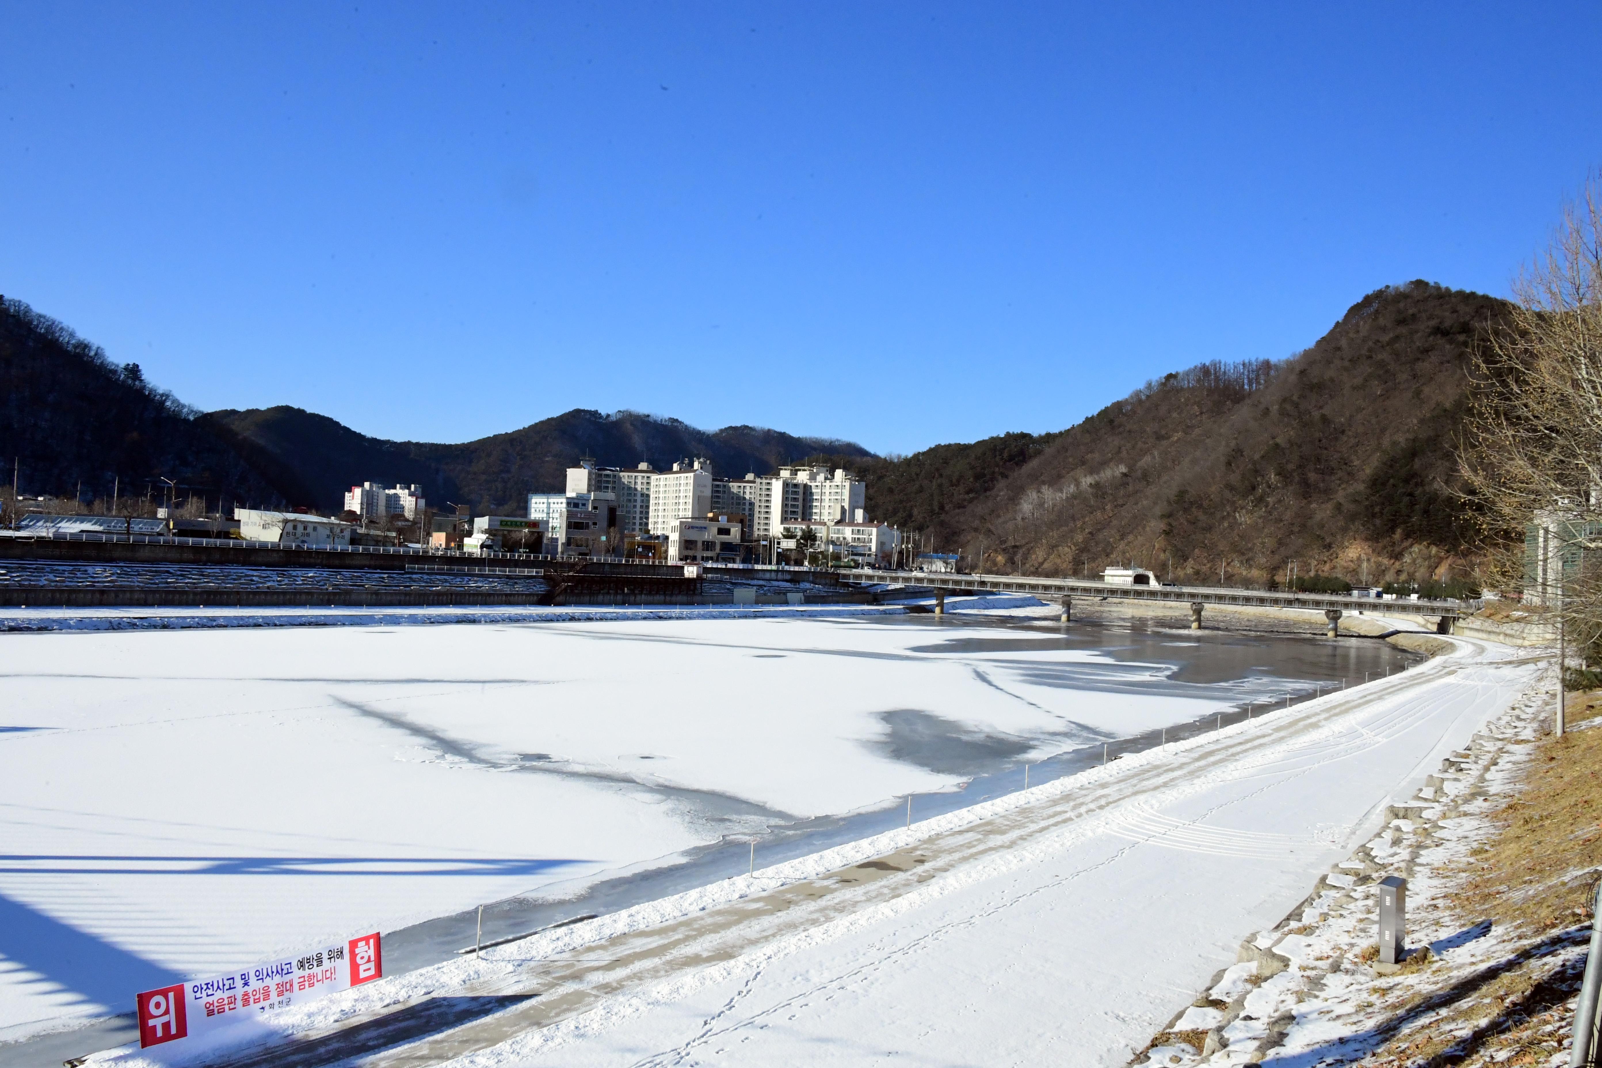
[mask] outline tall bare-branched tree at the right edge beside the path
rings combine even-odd
[[[1602,173],[1564,207],[1475,354],[1463,469],[1490,578],[1602,653]]]

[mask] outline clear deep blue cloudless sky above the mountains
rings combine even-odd
[[[1506,293],[1602,5],[0,3],[0,293],[202,408],[1061,429]]]

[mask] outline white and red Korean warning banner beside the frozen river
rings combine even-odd
[[[227,975],[147,990],[135,998],[139,1047],[240,1023],[271,1009],[300,1006],[383,978],[383,945],[373,932]]]

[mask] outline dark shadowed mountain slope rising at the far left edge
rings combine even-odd
[[[6,298],[0,455],[14,461],[21,493],[160,500],[167,477],[184,495],[213,501],[274,504],[282,496],[205,418],[147,383],[138,363],[114,363],[66,325]]]

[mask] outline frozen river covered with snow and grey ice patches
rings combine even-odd
[[[477,903],[610,911],[1403,663],[931,616],[0,636],[0,1041],[356,930],[423,964]]]

